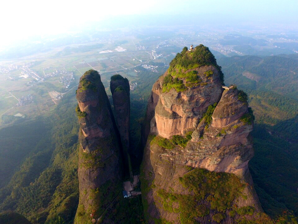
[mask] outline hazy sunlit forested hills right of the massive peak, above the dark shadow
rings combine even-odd
[[[298,137],[298,54],[234,56],[219,58],[218,63],[227,85],[237,83],[249,93],[248,100],[258,122],[270,124],[273,131],[282,132],[278,123],[294,119],[283,128],[289,128],[292,139]]]

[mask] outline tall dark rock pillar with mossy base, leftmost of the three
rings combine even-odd
[[[97,220],[121,190],[120,146],[111,105],[97,71],[80,78],[79,206],[75,223]]]

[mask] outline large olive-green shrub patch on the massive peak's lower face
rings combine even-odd
[[[196,218],[208,215],[210,209],[213,210],[213,213],[226,212],[227,209],[234,210],[233,202],[242,196],[245,187],[245,184],[236,175],[199,168],[189,170],[179,178],[179,181],[190,194],[173,193],[171,188],[169,191],[157,189],[156,193],[162,208],[167,212],[178,213],[181,224],[197,223]],[[207,204],[210,205],[207,207]],[[251,209],[243,207],[237,211],[244,215],[251,214]],[[222,219],[224,219],[222,213],[213,216],[213,220],[216,222],[220,222]]]

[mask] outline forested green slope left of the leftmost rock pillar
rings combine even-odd
[[[0,168],[6,178],[1,180],[0,211],[14,210],[32,223],[72,223],[78,204],[74,93],[49,117],[0,132]]]

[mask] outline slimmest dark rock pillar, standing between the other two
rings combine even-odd
[[[127,78],[121,75],[113,75],[111,77],[111,93],[115,109],[116,124],[120,133],[121,144],[124,152],[124,167],[132,171],[129,160],[129,123],[130,123],[130,98],[129,98],[129,82]]]

